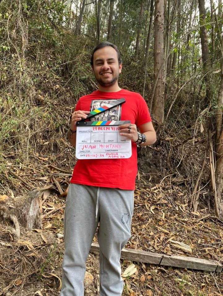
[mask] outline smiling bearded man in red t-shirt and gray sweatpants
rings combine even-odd
[[[86,119],[94,100],[125,98],[119,120],[120,135],[132,141],[129,159],[80,159],[74,168],[64,215],[63,284],[61,296],[83,296],[85,262],[98,228],[100,296],[120,296],[123,290],[120,253],[130,238],[133,190],[137,174],[137,144],[155,143],[148,107],[140,94],[121,89],[119,50],[109,42],[98,44],[91,57],[98,90],[83,96],[72,114],[68,138],[76,145],[76,123]],[[140,130],[140,133],[137,131]]]

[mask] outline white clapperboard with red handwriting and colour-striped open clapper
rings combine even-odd
[[[125,103],[121,98],[91,111],[85,120],[77,121],[76,157],[77,159],[129,158],[132,144],[128,137],[120,136],[118,125],[125,121],[86,121],[114,107]]]

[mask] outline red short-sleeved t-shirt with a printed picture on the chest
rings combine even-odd
[[[147,104],[142,96],[125,89],[114,93],[96,90],[81,97],[75,110],[92,111],[99,107],[100,102],[111,102],[120,98],[125,98],[126,102],[110,112],[111,115],[107,114],[107,120],[130,120],[137,126],[151,121]],[[134,190],[137,170],[137,145],[132,142],[132,156],[127,159],[78,159],[70,182]]]

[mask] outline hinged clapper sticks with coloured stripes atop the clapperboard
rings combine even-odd
[[[119,105],[121,105],[123,103],[125,103],[125,99],[121,98],[121,99],[115,100],[114,102],[111,102],[111,103],[109,103],[107,105],[104,105],[103,107],[100,107],[98,109],[90,111],[90,113],[87,115],[87,118],[85,120],[90,119],[90,118],[94,117],[95,115],[101,114],[101,113],[103,113],[105,111],[108,111],[108,110],[110,110],[110,109],[112,109],[112,108],[114,108],[116,106],[119,106]],[[120,124],[89,124],[89,122],[85,121],[85,120],[77,121],[76,125],[90,126],[90,125],[121,125],[122,124],[122,123],[120,123]],[[95,121],[95,122],[103,122],[103,121]],[[107,121],[105,121],[105,122],[107,122]],[[109,122],[111,122],[111,121],[109,121]],[[118,122],[118,121],[114,121],[114,122]],[[126,123],[128,123],[128,122],[126,122]]]

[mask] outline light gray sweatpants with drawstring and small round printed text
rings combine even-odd
[[[130,238],[133,190],[70,184],[64,215],[60,296],[83,296],[85,263],[98,226],[100,296],[123,290],[120,254]]]

